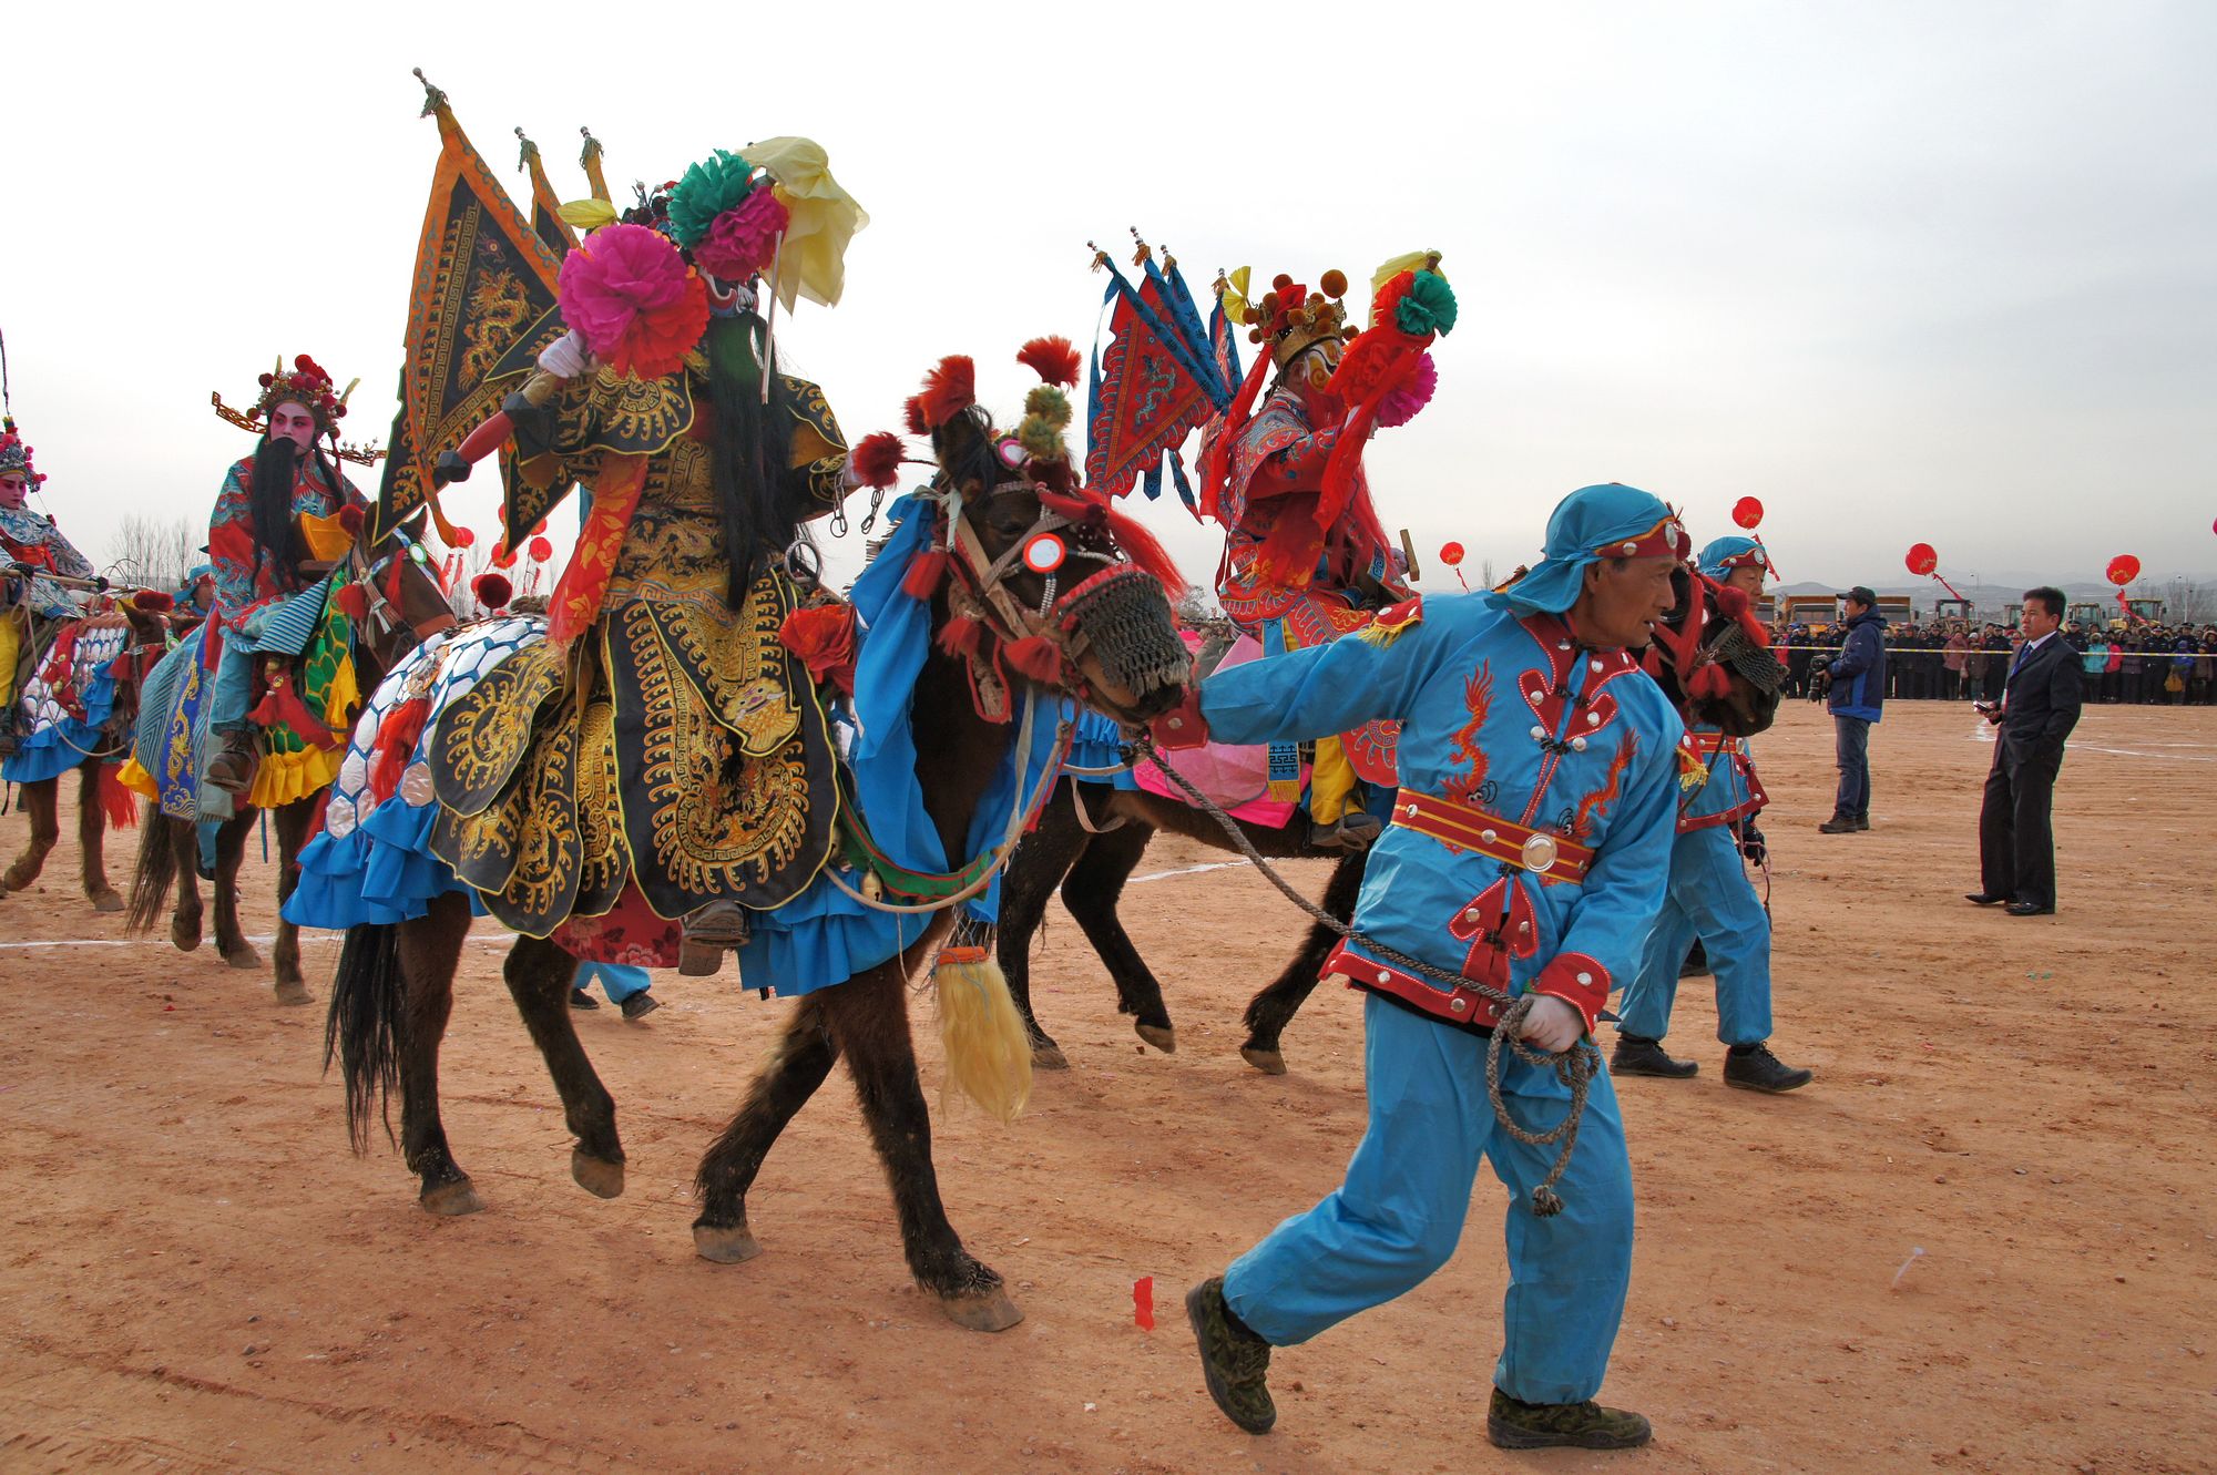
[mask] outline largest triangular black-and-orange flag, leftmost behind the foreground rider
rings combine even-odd
[[[408,359],[377,487],[377,538],[423,507],[439,452],[499,410],[510,381],[563,334],[556,252],[454,122],[446,93],[430,82],[423,91],[423,111],[439,120],[439,164],[408,286]]]

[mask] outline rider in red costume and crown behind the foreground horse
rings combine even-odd
[[[1264,656],[1330,644],[1410,596],[1370,503],[1361,450],[1372,425],[1399,425],[1423,405],[1432,383],[1423,348],[1454,326],[1454,295],[1432,252],[1379,270],[1372,328],[1361,334],[1348,330],[1339,301],[1348,279],[1330,270],[1319,286],[1310,292],[1279,275],[1253,308],[1237,288],[1224,292],[1228,317],[1250,323],[1248,339],[1268,357],[1255,357],[1208,427],[1199,512],[1224,525],[1217,602]],[[1350,339],[1363,348],[1350,350]],[[1355,374],[1339,372],[1348,352]],[[1379,833],[1348,738],[1319,733],[1310,757],[1310,839],[1326,848],[1363,848]],[[1366,746],[1386,751],[1386,740]],[[1375,769],[1379,780],[1388,773],[1390,760]],[[1270,793],[1299,797],[1293,744],[1270,749]]]

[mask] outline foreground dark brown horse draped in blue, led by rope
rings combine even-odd
[[[1042,693],[1082,695],[1124,722],[1146,722],[1166,711],[1184,684],[1184,647],[1164,587],[1155,574],[1122,560],[1133,534],[1117,532],[1115,516],[1100,503],[1058,496],[1026,474],[1011,474],[1002,461],[1007,445],[1013,441],[995,439],[978,410],[964,410],[933,430],[940,463],[931,483],[931,496],[940,501],[936,527],[956,518],[958,536],[953,549],[918,551],[911,560],[911,571],[927,560],[944,560],[949,569],[931,591],[933,640],[911,704],[920,738],[916,782],[949,857],[967,855],[971,817],[1013,742],[1007,715],[982,715],[998,704],[989,695],[995,673],[1007,671],[1011,687],[1029,689],[1033,702]],[[1049,578],[1020,556],[1042,534],[1071,545],[1073,567],[1086,558],[1100,571],[1084,580],[1066,576],[1071,587],[1058,596]],[[1159,558],[1159,549],[1151,554]],[[969,638],[967,644],[958,633]],[[1042,644],[1051,651],[1046,662],[1038,660]],[[984,691],[973,682],[984,682]],[[701,1161],[701,1214],[694,1220],[701,1256],[729,1265],[760,1251],[747,1223],[747,1192],[785,1123],[845,1056],[871,1143],[885,1161],[916,1282],[938,1296],[962,1327],[1000,1331],[1020,1320],[1000,1276],[971,1258],[947,1223],[931,1165],[931,1116],[909,1036],[907,979],[947,937],[951,915],[940,910],[920,919],[916,939],[902,952],[794,1003],[772,1061]],[[419,1203],[432,1214],[483,1207],[439,1121],[439,1039],[452,1010],[454,966],[468,928],[470,908],[459,893],[439,897],[415,921],[353,928],[333,986],[326,1036],[346,1076],[357,1149],[368,1136],[375,1103],[399,1085],[399,1145],[408,1169],[421,1178]],[[621,1194],[625,1156],[614,1098],[585,1059],[568,1008],[572,955],[554,941],[519,937],[503,972],[576,1136],[572,1176],[592,1194]],[[776,979],[760,983],[774,986]]]

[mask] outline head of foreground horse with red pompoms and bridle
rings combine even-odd
[[[942,516],[909,591],[933,596],[940,649],[967,658],[973,680],[1022,680],[1144,724],[1179,702],[1191,669],[1171,613],[1177,565],[1071,465],[1058,385],[1075,385],[1075,350],[1035,339],[1018,359],[1046,383],[1015,432],[971,401],[969,359],[942,361],[911,403]]]

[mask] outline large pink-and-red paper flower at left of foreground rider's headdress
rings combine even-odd
[[[674,374],[707,328],[707,283],[645,226],[603,226],[563,257],[561,317],[621,374]]]

